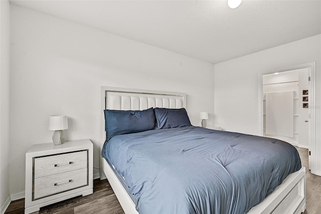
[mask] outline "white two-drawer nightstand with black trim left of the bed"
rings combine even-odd
[[[78,195],[93,193],[90,140],[33,145],[26,153],[25,213]]]

